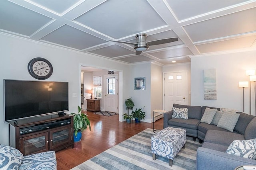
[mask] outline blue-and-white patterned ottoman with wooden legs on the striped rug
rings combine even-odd
[[[153,160],[156,160],[156,155],[163,156],[170,159],[169,165],[172,166],[172,160],[181,148],[185,148],[185,143],[185,129],[166,127],[151,137]]]

